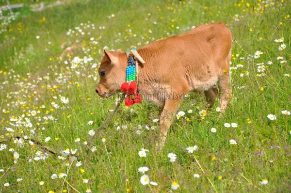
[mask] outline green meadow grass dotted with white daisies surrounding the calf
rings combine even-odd
[[[291,116],[281,113],[291,110],[291,79],[285,76],[291,70],[288,1],[74,0],[37,13],[28,5],[25,2],[23,8],[16,9],[16,20],[7,26],[7,32],[0,33],[0,138],[7,145],[0,151],[0,192],[169,192],[173,181],[180,185],[176,192],[183,193],[289,192]],[[114,17],[109,18],[112,14]],[[243,65],[231,70],[232,98],[222,117],[215,111],[217,101],[213,111],[201,117],[204,96],[192,93],[194,99],[184,101],[179,108],[186,114],[175,119],[158,154],[155,143],[159,129],[153,122],[159,118],[158,109],[151,103],[130,109],[122,106],[108,128],[97,132],[115,104],[95,94],[99,77],[98,67],[93,64],[100,64],[104,47],[124,51],[138,48],[213,21],[226,22],[234,39],[232,66]],[[84,29],[87,22],[90,27]],[[66,35],[77,26],[84,35]],[[98,43],[94,44],[91,37]],[[282,43],[274,40],[281,37],[287,48],[280,51]],[[66,47],[74,44],[76,49],[61,59],[63,42]],[[254,59],[257,50],[263,54]],[[93,61],[81,62],[76,68],[65,64],[76,56],[92,57]],[[283,59],[277,60],[278,56]],[[284,60],[287,63],[281,64]],[[273,64],[268,65],[268,61]],[[267,66],[266,76],[258,77],[256,64],[261,62]],[[60,96],[68,97],[69,104],[61,103]],[[187,113],[190,109],[193,113]],[[275,114],[276,120],[268,119],[268,114]],[[16,124],[13,118],[22,115],[18,126],[11,125]],[[55,120],[46,120],[49,115]],[[26,127],[25,117],[32,128]],[[90,120],[92,125],[88,124]],[[237,123],[238,128],[225,128],[225,123]],[[116,130],[117,126],[121,128]],[[146,126],[154,127],[147,130]],[[210,132],[211,128],[217,132]],[[88,135],[91,129],[96,132],[94,137]],[[10,140],[13,136],[36,139],[59,155],[66,148],[77,148],[71,156],[82,165],[76,167],[72,157],[61,160],[54,155],[35,161],[36,152],[44,151],[27,141],[17,145]],[[51,139],[45,142],[47,137]],[[79,143],[75,142],[77,138]],[[230,145],[230,139],[237,145]],[[83,145],[85,141],[87,145]],[[190,145],[199,148],[189,154],[186,148]],[[94,152],[93,146],[97,149]],[[10,148],[19,154],[18,159]],[[146,158],[139,157],[141,148],[149,149]],[[167,155],[171,152],[177,154],[176,162],[169,162]],[[149,168],[146,174],[158,186],[140,183],[141,166]],[[59,173],[67,176],[51,179],[52,174]],[[194,178],[195,173],[200,178]],[[23,180],[17,182],[17,178]],[[83,183],[85,178],[89,179],[87,184]],[[269,183],[261,185],[263,179]],[[4,186],[6,182],[8,187]]]

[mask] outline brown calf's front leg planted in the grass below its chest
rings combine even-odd
[[[156,144],[156,150],[161,151],[165,145],[168,130],[172,124],[173,117],[177,112],[180,100],[166,100],[163,111],[160,116],[160,137]]]

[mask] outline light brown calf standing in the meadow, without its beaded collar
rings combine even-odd
[[[181,35],[158,40],[138,49],[146,64],[138,66],[138,90],[144,99],[162,107],[160,140],[162,148],[173,115],[181,97],[193,90],[202,90],[211,108],[218,90],[219,105],[224,112],[230,97],[229,64],[232,35],[225,23],[201,25]],[[107,97],[120,92],[125,81],[127,55],[104,50],[99,67],[100,81],[96,92]],[[170,96],[170,97],[169,97]]]

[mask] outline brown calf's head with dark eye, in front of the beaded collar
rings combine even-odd
[[[98,73],[100,76],[96,92],[101,97],[108,97],[120,91],[125,81],[127,67],[126,53],[120,49],[117,52],[104,50]]]

